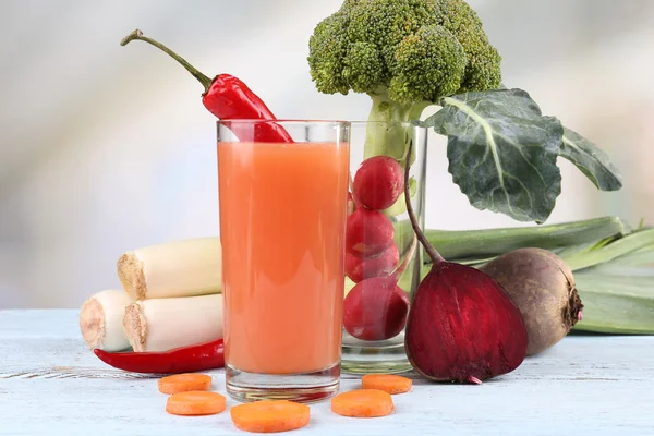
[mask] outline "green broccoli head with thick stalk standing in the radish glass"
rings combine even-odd
[[[346,0],[315,27],[308,65],[325,94],[373,99],[368,120],[411,121],[439,98],[497,88],[501,58],[463,0]],[[365,156],[404,157],[405,132],[368,131]]]

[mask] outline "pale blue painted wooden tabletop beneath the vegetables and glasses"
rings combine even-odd
[[[246,435],[229,412],[165,412],[156,378],[113,370],[86,348],[77,311],[0,311],[0,435]],[[209,372],[225,393],[222,371]],[[298,435],[654,435],[654,337],[571,336],[482,386],[417,376],[380,419],[313,404]],[[343,376],[341,390],[360,386]],[[228,408],[237,402],[228,399]]]

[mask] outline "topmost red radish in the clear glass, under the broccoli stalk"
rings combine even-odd
[[[353,187],[362,205],[375,210],[386,209],[404,190],[402,166],[388,156],[371,157],[361,164]]]

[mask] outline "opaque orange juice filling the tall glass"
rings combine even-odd
[[[348,144],[218,144],[227,364],[338,363],[348,171]]]

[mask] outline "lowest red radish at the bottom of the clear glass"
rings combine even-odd
[[[343,301],[343,326],[353,337],[384,340],[398,336],[407,324],[409,299],[395,279],[363,280]]]

